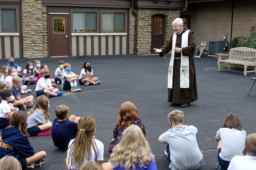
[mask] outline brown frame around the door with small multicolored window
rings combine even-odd
[[[55,12],[47,12],[47,32],[48,32],[48,34],[47,34],[47,43],[48,43],[48,58],[54,58],[54,57],[51,57],[51,44],[50,44],[50,17],[51,17],[51,15],[67,15],[67,26],[66,26],[66,28],[67,28],[67,35],[68,35],[68,37],[69,37],[69,39],[68,39],[68,57],[70,57],[71,56],[71,52],[72,52],[72,48],[71,48],[71,46],[70,46],[70,41],[71,41],[71,34],[70,34],[70,13],[55,13]]]

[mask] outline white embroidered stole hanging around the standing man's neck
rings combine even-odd
[[[187,30],[182,34],[181,40],[181,48],[187,47],[189,45],[189,31]],[[177,35],[174,34],[172,36],[172,55],[171,61],[169,65],[169,73],[168,73],[168,88],[172,89],[172,78],[173,78],[173,62],[174,60],[174,48],[176,45],[176,38]],[[189,56],[183,56],[181,52],[181,59],[180,59],[180,88],[189,88]]]

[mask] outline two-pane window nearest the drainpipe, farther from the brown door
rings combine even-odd
[[[103,12],[102,32],[125,32],[125,12]]]

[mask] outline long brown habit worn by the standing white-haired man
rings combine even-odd
[[[183,28],[183,32],[180,35],[177,35],[175,45],[177,48],[181,48],[182,34],[186,32],[186,30],[188,30],[186,26],[183,26]],[[159,53],[160,57],[162,57],[163,55],[167,54],[172,50],[172,36],[166,42],[166,44],[160,48],[162,50],[162,52]],[[172,102],[174,104],[189,104],[198,99],[195,76],[195,64],[193,60],[193,55],[195,51],[195,40],[192,31],[189,32],[188,43],[189,46],[182,48],[182,54],[184,56],[189,56],[189,88],[180,88],[180,59],[174,59],[173,85],[172,89],[168,88],[168,102]],[[174,57],[180,58],[181,53],[175,52]]]

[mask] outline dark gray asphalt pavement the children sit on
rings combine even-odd
[[[36,59],[19,58],[15,63],[26,66],[27,61]],[[104,144],[104,162],[108,160],[108,146],[113,138],[112,130],[119,115],[119,107],[125,101],[131,101],[138,109],[138,114],[145,125],[146,139],[156,157],[158,170],[168,170],[168,161],[164,154],[166,145],[160,144],[157,138],[169,129],[167,115],[175,109],[184,112],[184,124],[198,128],[198,146],[204,154],[205,165],[199,170],[215,170],[217,163],[216,131],[221,128],[227,113],[239,115],[243,129],[256,133],[255,99],[256,92],[247,94],[253,84],[250,80],[256,77],[253,73],[243,75],[241,71],[221,69],[218,72],[217,60],[194,58],[198,86],[198,100],[190,107],[179,108],[167,102],[167,75],[170,55],[160,58],[159,55],[108,55],[84,56],[70,58],[39,58],[41,64],[47,64],[50,75],[54,78],[58,61],[70,63],[72,72],[80,74],[85,61],[91,63],[94,77],[102,82],[99,85],[79,85],[81,92],[61,90],[60,97],[49,98],[49,120],[55,117],[54,109],[60,104],[70,108],[71,115],[91,116],[96,121],[95,138]],[[7,59],[0,60],[6,65]],[[35,84],[28,85],[35,94]],[[21,95],[24,97],[26,95]],[[51,135],[29,137],[35,152],[46,151],[45,165],[41,170],[65,170],[66,154],[53,145]]]

